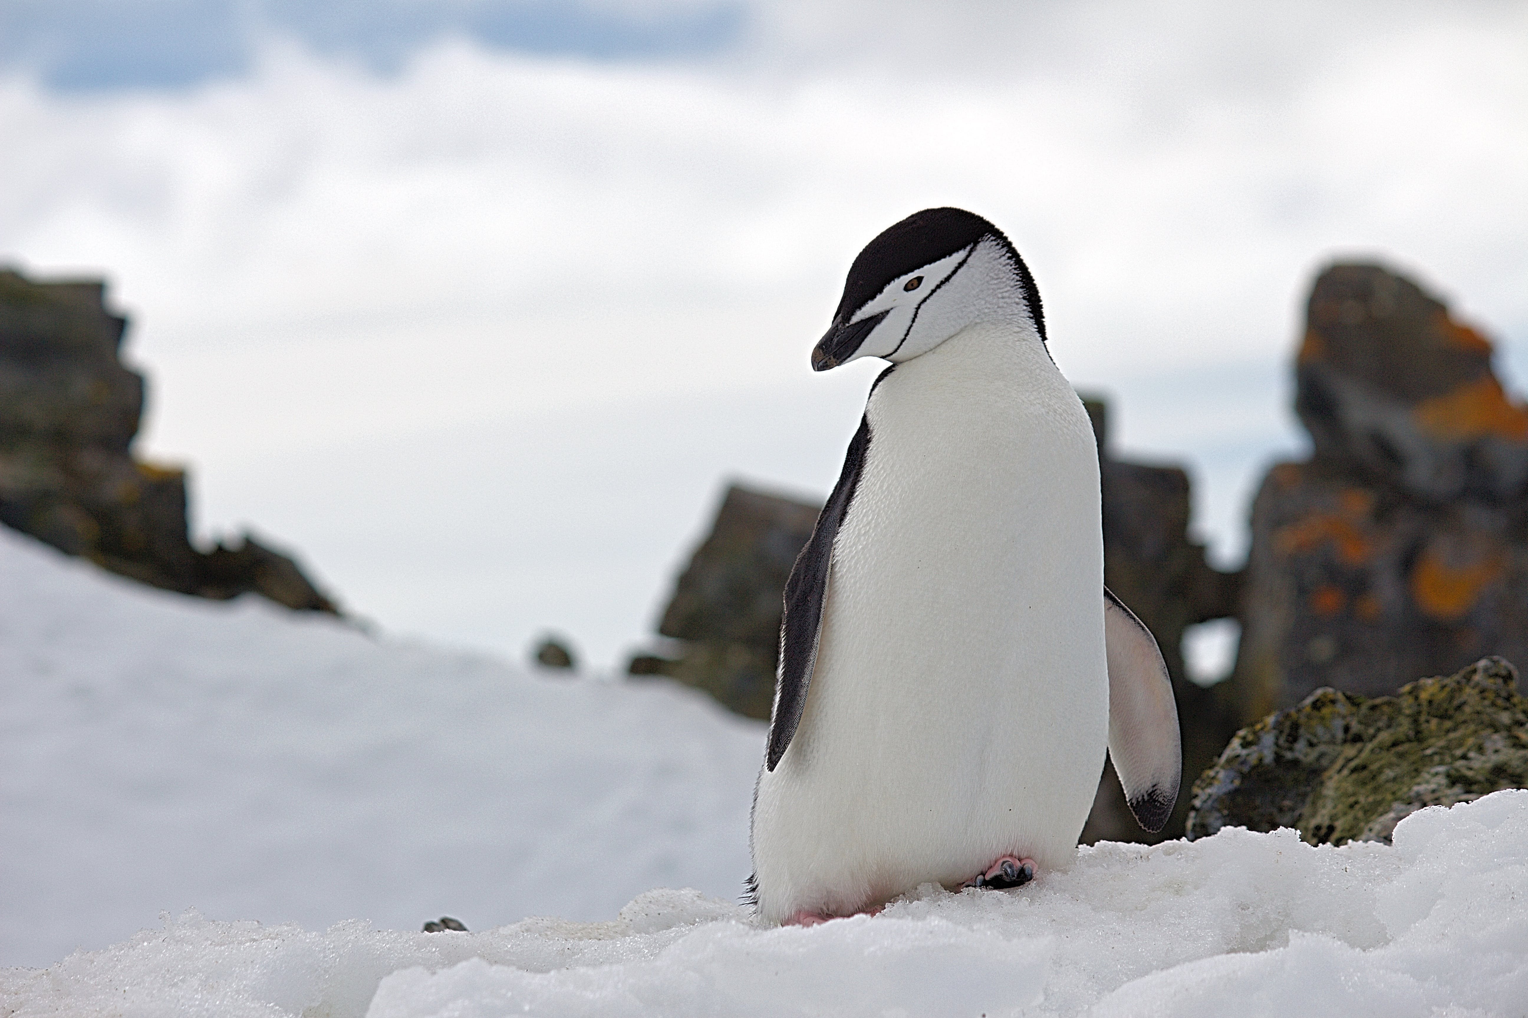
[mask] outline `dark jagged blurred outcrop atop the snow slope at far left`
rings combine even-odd
[[[144,379],[119,360],[127,321],[104,296],[101,282],[0,270],[0,523],[157,588],[336,612],[248,534],[211,552],[191,545],[185,473],[131,453]]]

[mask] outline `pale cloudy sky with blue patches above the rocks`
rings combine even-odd
[[[1115,452],[1245,552],[1309,282],[1381,259],[1528,380],[1528,5],[0,0],[0,264],[104,276],[139,453],[382,630],[619,668],[724,485],[822,498],[807,354],[981,212]]]

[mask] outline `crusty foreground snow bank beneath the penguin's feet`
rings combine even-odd
[[[610,922],[388,933],[168,919],[0,977],[0,1013],[1522,1015],[1528,791],[1401,821],[1395,844],[1227,829],[1080,849],[1015,891],[924,887],[876,917],[766,929],[697,891]]]

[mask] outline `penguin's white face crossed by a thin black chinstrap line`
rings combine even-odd
[[[1010,259],[1001,244],[981,240],[888,282],[854,311],[845,327],[834,331],[848,333],[856,324],[883,317],[856,350],[830,351],[834,353],[831,363],[822,363],[822,368],[860,357],[902,363],[926,354],[967,325],[1015,313],[1027,317],[1028,308]],[[828,345],[828,337],[824,337],[819,350]]]

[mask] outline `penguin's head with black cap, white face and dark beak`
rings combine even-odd
[[[1024,322],[1045,342],[1041,295],[1019,252],[973,212],[924,209],[888,227],[850,266],[811,368],[912,360],[967,325],[1001,319]]]

